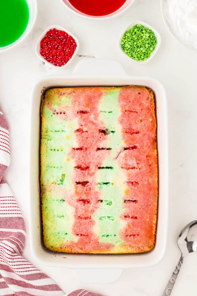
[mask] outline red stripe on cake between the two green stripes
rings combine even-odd
[[[75,161],[75,170],[72,176],[75,194],[68,202],[75,209],[72,231],[74,235],[78,236],[78,240],[69,243],[69,246],[76,252],[79,250],[83,252],[109,250],[113,247],[113,244],[99,242],[99,237],[93,232],[95,220],[91,218],[95,209],[100,206],[98,202],[100,192],[95,190],[97,185],[95,173],[109,153],[107,150],[103,150],[98,155],[96,151],[104,139],[98,132],[99,128],[103,126],[98,110],[101,97],[102,92],[84,92],[82,89],[72,95],[72,113],[78,119],[76,131],[87,131],[75,133],[77,146],[85,147],[85,149],[72,149],[70,152],[70,156]],[[81,112],[81,110],[86,110],[86,112]],[[84,181],[88,181],[88,183],[85,184]],[[85,185],[82,186],[83,184]]]

